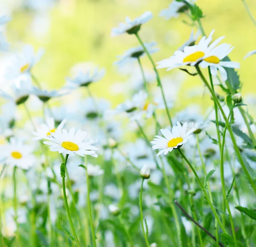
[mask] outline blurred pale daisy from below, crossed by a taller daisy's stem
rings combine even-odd
[[[146,47],[150,54],[157,52],[159,50],[157,47],[154,47],[156,45],[156,42],[144,43],[144,46]],[[122,66],[125,63],[137,61],[137,59],[139,57],[142,57],[143,55],[145,55],[144,48],[142,46],[137,46],[129,49],[123,55],[118,56],[119,60],[116,61],[114,64]]]

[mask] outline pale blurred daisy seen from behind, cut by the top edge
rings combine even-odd
[[[182,1],[172,1],[172,3],[169,4],[167,9],[163,9],[160,12],[160,16],[164,17],[166,20],[169,20],[171,18],[177,18],[180,13],[186,11],[188,9],[188,7],[186,6],[185,3],[183,3]]]

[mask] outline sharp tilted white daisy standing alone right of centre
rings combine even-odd
[[[169,129],[160,129],[160,132],[163,134],[164,137],[156,135],[153,141],[151,141],[154,146],[152,149],[162,149],[158,154],[164,153],[166,155],[168,152],[171,152],[172,149],[178,148],[178,146],[183,145],[186,143],[191,137],[192,133],[196,130],[195,128],[189,129],[186,132],[187,123],[184,123],[181,126],[180,122],[177,122],[177,126],[172,127],[172,131]]]

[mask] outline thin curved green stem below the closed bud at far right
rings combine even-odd
[[[231,115],[231,112],[228,115],[228,118],[227,118],[228,120],[230,118],[230,115]],[[221,164],[220,164],[221,188],[222,188],[222,194],[223,194],[223,198],[224,198],[223,203],[225,203],[226,207],[227,207],[227,212],[228,212],[229,218],[230,218],[232,234],[233,234],[234,241],[236,243],[236,230],[235,230],[232,214],[231,214],[230,207],[229,207],[228,200],[227,200],[227,195],[226,195],[226,191],[225,191],[225,179],[224,179],[224,146],[225,146],[225,136],[226,136],[226,132],[227,132],[227,125],[228,124],[225,125],[224,131],[223,131],[222,144],[221,144]]]

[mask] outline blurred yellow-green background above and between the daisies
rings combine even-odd
[[[123,101],[127,83],[131,77],[113,65],[117,55],[131,47],[138,46],[133,35],[121,35],[111,38],[111,28],[118,26],[126,16],[134,19],[144,11],[151,11],[154,18],[143,25],[140,32],[144,42],[156,41],[160,51],[153,55],[157,62],[175,52],[188,38],[193,27],[187,25],[189,18],[181,14],[178,18],[165,20],[159,16],[166,9],[170,0],[1,0],[0,14],[8,14],[12,21],[4,25],[10,50],[18,52],[24,44],[31,44],[35,50],[43,48],[44,56],[33,69],[33,74],[47,85],[47,89],[58,89],[70,76],[70,69],[83,62],[93,62],[106,69],[100,83],[93,83],[91,90],[99,97],[111,99],[112,106]],[[256,49],[256,26],[250,20],[241,0],[198,0],[198,6],[205,17],[202,19],[208,35],[215,29],[214,38],[226,36],[223,42],[235,46],[230,57],[241,63],[239,75],[243,83],[243,96],[254,96],[256,92],[256,56],[243,60],[247,52]],[[247,0],[252,14],[256,17],[256,1]],[[196,27],[194,27],[196,31]],[[6,85],[4,71],[5,60],[1,54],[0,83]],[[146,57],[142,60],[145,69],[151,69]],[[195,95],[194,103],[207,101],[199,78],[192,78],[186,73],[160,70],[160,75],[175,74],[175,79],[182,90],[178,90],[178,108],[188,104],[186,99]],[[136,78],[136,76],[134,77]],[[126,84],[125,84],[126,83]],[[176,84],[177,84],[176,83]],[[177,86],[177,85],[176,85]],[[180,93],[182,92],[182,94]],[[176,91],[175,91],[176,93]],[[189,95],[188,95],[189,94]],[[193,96],[193,95],[192,95]],[[127,97],[127,96],[126,96]],[[208,97],[206,97],[208,98]],[[254,97],[250,97],[254,98]],[[205,102],[204,102],[205,103]]]

